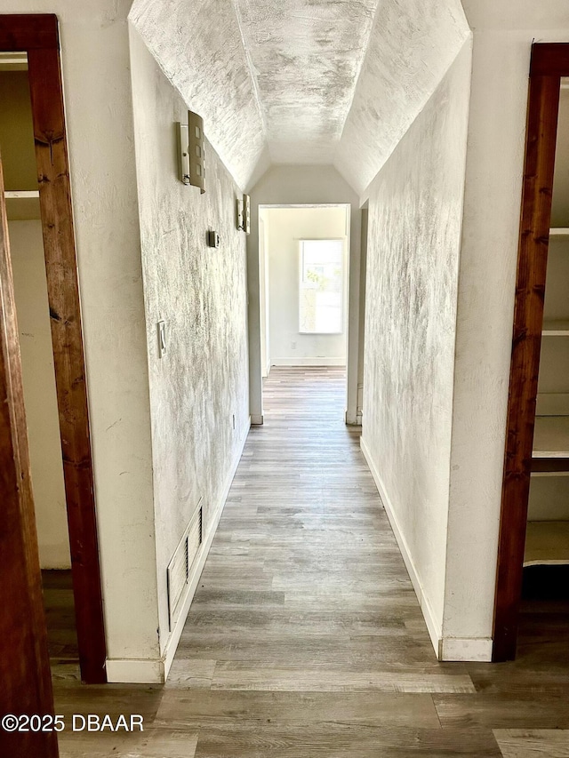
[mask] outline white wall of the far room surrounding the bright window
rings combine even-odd
[[[261,208],[268,244],[271,365],[345,365],[349,207]],[[301,239],[344,239],[343,331],[301,334],[299,272]]]

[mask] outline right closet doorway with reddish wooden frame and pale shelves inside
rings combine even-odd
[[[516,656],[528,570],[565,570],[569,563],[569,500],[563,496],[569,483],[569,384],[562,368],[569,357],[569,203],[562,187],[569,187],[569,164],[556,164],[559,119],[566,117],[569,125],[563,77],[569,77],[569,44],[534,44],[494,607],[495,661]],[[561,161],[565,153],[565,161],[569,159],[569,141],[564,145],[558,151]],[[557,504],[552,500],[555,491],[561,492]]]

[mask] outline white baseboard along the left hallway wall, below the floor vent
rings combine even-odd
[[[170,636],[164,647],[164,653],[162,658],[148,659],[148,660],[129,660],[120,658],[110,658],[107,660],[107,678],[108,682],[124,682],[129,684],[163,684],[168,677],[168,672],[172,666],[172,661],[180,642],[181,633],[188,617],[189,606],[196,594],[196,588],[199,584],[199,579],[204,570],[205,561],[209,555],[210,548],[212,547],[212,541],[217,531],[218,524],[220,523],[221,514],[223,513],[223,507],[228,499],[229,490],[233,477],[236,474],[239,461],[243,454],[244,444],[247,440],[247,434],[251,427],[251,417],[247,419],[247,422],[242,431],[239,446],[237,448],[234,459],[231,462],[231,467],[228,471],[228,475],[223,483],[223,490],[220,493],[217,507],[215,508],[212,521],[209,526],[207,535],[204,542],[200,547],[197,554],[196,563],[192,570],[192,576],[189,579],[188,589],[186,590],[186,596],[182,607],[180,609],[180,615],[176,625],[172,629]]]

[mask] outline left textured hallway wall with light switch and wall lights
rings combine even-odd
[[[246,251],[236,184],[210,146],[205,194],[180,182],[174,122],[187,107],[134,30],[131,53],[164,650],[166,567],[202,497],[209,531],[248,428]],[[208,229],[219,232],[218,249],[207,246]]]

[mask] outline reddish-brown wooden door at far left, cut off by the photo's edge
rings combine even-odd
[[[53,714],[1,161],[0,586],[0,715]],[[57,758],[57,737],[0,727],[0,754]]]

